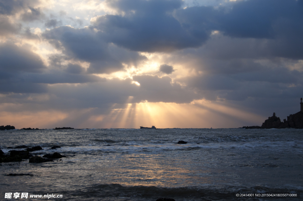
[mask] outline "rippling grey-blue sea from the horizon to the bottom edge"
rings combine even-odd
[[[4,153],[19,145],[66,157],[0,163],[0,200],[302,200],[302,129],[0,131]]]

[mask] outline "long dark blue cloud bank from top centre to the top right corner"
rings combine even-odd
[[[182,9],[179,0],[118,0],[108,5],[124,15],[103,15],[93,26],[108,42],[135,51],[173,51],[199,47],[214,30],[237,38],[275,39],[267,51],[276,56],[301,57],[301,0],[248,0],[227,6]],[[296,42],[297,41],[297,42]],[[286,50],[283,50],[286,48]],[[293,48],[291,53],[289,51]],[[288,55],[287,55],[288,54]]]

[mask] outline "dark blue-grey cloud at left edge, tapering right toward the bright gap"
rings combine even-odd
[[[1,44],[0,93],[44,93],[48,91],[47,84],[103,81],[86,74],[85,69],[76,64],[59,67],[66,70],[47,70],[42,59],[29,47]]]

